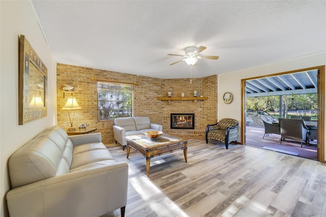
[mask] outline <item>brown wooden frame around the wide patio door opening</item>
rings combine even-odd
[[[311,71],[311,70],[318,70],[318,86],[317,86],[317,93],[318,93],[318,120],[317,120],[317,159],[325,163],[325,139],[324,139],[324,132],[325,132],[325,66],[316,66],[304,69],[298,69],[293,71],[286,71],[280,72],[276,74],[268,74],[262,75],[257,77],[250,77],[241,79],[241,143],[246,143],[246,81],[252,79],[258,79],[263,77],[270,77],[276,75],[283,75],[283,74],[291,74],[296,72],[302,71]]]

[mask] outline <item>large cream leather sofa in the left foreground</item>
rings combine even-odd
[[[127,203],[128,164],[117,162],[101,133],[69,136],[53,126],[10,156],[14,216],[100,216]]]

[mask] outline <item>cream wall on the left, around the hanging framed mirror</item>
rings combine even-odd
[[[7,216],[9,156],[36,134],[56,125],[56,62],[42,35],[30,1],[0,1],[0,216]],[[25,35],[48,69],[47,117],[18,125],[18,36]]]

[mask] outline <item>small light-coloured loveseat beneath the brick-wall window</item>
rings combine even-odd
[[[122,145],[122,149],[127,146],[126,137],[128,135],[137,135],[146,131],[162,131],[163,126],[150,122],[149,117],[128,117],[116,118],[113,125],[114,139]]]

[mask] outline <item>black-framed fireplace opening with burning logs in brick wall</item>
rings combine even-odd
[[[195,129],[195,114],[171,114],[171,129]]]

